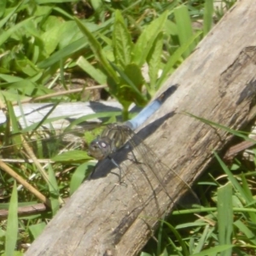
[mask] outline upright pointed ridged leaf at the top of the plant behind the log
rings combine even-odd
[[[116,10],[113,24],[113,54],[116,65],[124,68],[131,63],[131,49],[131,34],[120,11]]]

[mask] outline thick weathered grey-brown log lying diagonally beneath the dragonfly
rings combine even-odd
[[[180,86],[149,120],[165,119],[175,110],[171,118],[157,123],[157,131],[147,137],[146,143],[190,184],[212,160],[212,150],[224,148],[231,137],[183,111],[233,129],[247,124],[251,116],[256,56],[255,49],[245,48],[256,45],[255,13],[254,1],[244,0],[224,16],[168,79],[166,86]],[[146,126],[144,131],[150,133],[153,126]],[[142,172],[129,164],[129,160],[125,161],[127,187],[116,185],[118,177],[111,173],[85,181],[26,255],[136,255],[151,236],[149,227],[154,229],[157,223],[156,218],[148,217],[164,214],[170,201],[156,183],[154,197]],[[111,167],[103,165],[101,171],[109,172]],[[179,197],[180,184],[166,173],[166,188],[172,198]],[[147,205],[144,210],[142,201]]]

